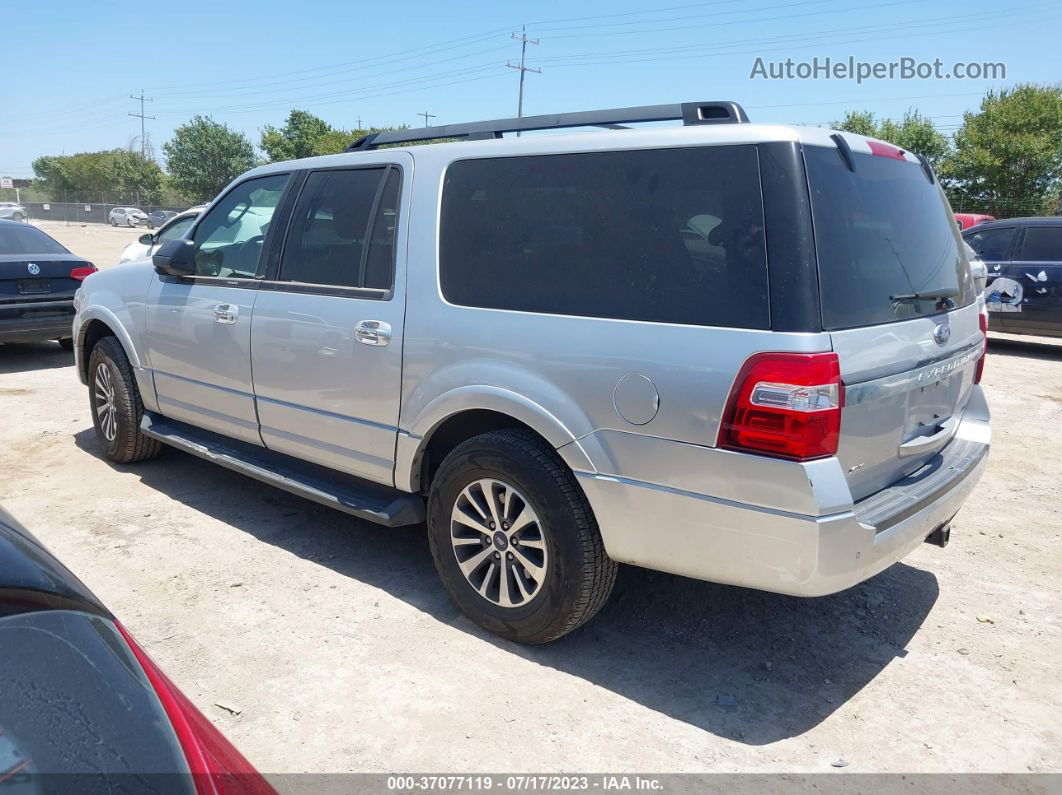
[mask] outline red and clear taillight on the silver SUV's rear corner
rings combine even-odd
[[[834,455],[843,407],[837,353],[756,353],[734,382],[720,444],[798,461]]]

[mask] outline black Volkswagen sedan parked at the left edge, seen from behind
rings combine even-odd
[[[92,273],[37,227],[0,221],[0,343],[58,340],[70,350],[74,292]]]

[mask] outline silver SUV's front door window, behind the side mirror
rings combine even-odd
[[[195,273],[252,279],[288,174],[237,185],[195,227]]]

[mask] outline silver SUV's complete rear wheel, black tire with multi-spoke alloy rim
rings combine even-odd
[[[575,476],[529,431],[484,433],[446,456],[431,485],[428,537],[458,606],[520,643],[582,625],[616,581]]]

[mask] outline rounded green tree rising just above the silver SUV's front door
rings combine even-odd
[[[162,152],[173,188],[194,202],[209,202],[256,165],[247,137],[208,116],[194,116],[173,131]]]

